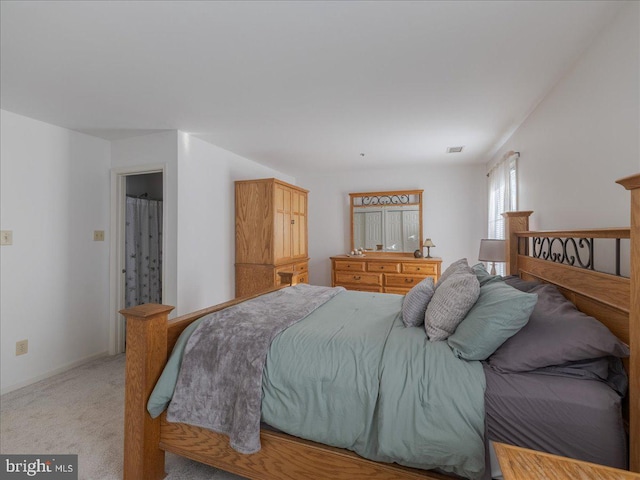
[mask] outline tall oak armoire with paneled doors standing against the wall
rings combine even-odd
[[[308,282],[307,190],[275,178],[236,184],[236,297]]]

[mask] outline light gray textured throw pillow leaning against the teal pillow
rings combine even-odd
[[[424,320],[427,337],[432,342],[446,340],[455,332],[480,295],[478,279],[468,266],[451,274],[439,285],[427,305]]]

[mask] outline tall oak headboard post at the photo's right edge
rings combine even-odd
[[[631,191],[629,470],[640,472],[640,174],[621,178],[616,183]]]

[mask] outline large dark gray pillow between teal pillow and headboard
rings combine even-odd
[[[554,285],[538,285],[529,322],[489,358],[501,372],[527,372],[591,358],[629,356],[629,347],[602,323],[579,311]]]

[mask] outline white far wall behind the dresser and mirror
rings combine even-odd
[[[309,280],[331,284],[329,257],[350,249],[349,193],[423,189],[423,236],[446,268],[467,257],[476,262],[487,233],[484,165],[423,166],[296,177],[309,192]]]

